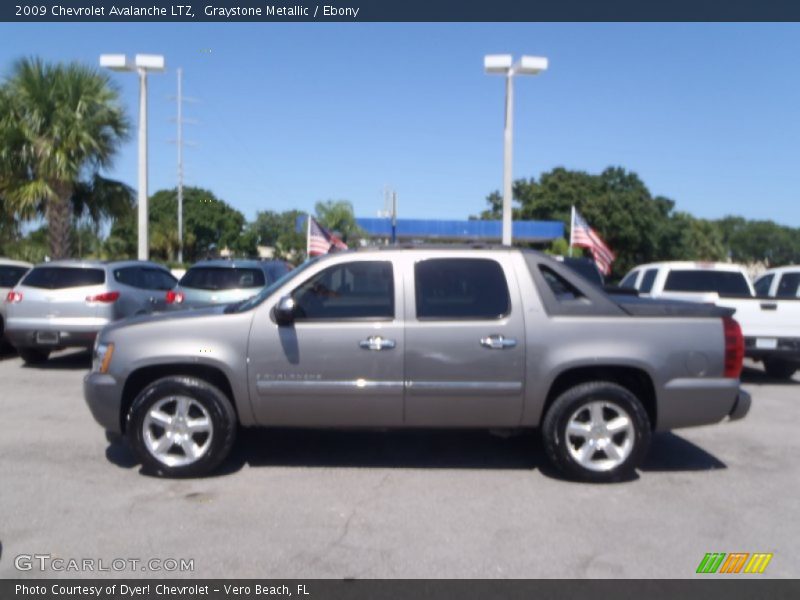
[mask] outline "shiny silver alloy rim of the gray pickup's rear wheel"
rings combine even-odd
[[[565,438],[570,456],[580,466],[610,471],[625,462],[633,450],[633,421],[618,404],[595,400],[572,413]]]

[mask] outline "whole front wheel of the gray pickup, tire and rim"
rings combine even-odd
[[[197,477],[230,453],[236,413],[219,389],[196,377],[164,377],[131,404],[126,433],[143,466],[158,475]]]

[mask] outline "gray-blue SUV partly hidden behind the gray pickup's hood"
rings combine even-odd
[[[204,260],[192,265],[166,295],[174,308],[198,308],[246,300],[283,277],[282,260]]]

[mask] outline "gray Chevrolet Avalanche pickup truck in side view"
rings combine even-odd
[[[162,475],[210,472],[240,425],[539,428],[566,476],[613,481],[653,431],[747,413],[732,312],[608,296],[533,251],[349,251],[107,326],[84,391]]]

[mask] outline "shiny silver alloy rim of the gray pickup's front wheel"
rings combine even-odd
[[[147,411],[142,438],[150,454],[168,467],[190,465],[211,447],[214,425],[206,408],[187,396],[167,396]]]

